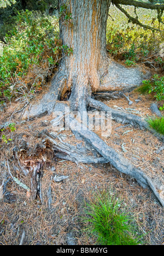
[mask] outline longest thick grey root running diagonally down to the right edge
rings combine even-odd
[[[91,102],[98,104],[97,101],[94,101],[91,98],[89,98],[88,102],[89,104],[91,104]],[[63,107],[61,107],[60,105],[63,105],[63,103],[58,103],[57,109],[63,109]],[[100,103],[100,106],[101,106],[101,103]],[[94,107],[95,107],[95,104],[94,104]],[[109,109],[105,109],[105,110],[109,110]],[[64,115],[65,113],[63,113],[63,117]],[[101,138],[99,138],[96,135],[96,133],[89,130],[84,124],[82,125],[77,119],[73,117],[72,114],[67,113],[67,116],[68,115],[69,115],[70,128],[73,133],[78,134],[81,138],[84,139],[85,142],[89,143],[91,145],[91,148],[94,148],[99,153],[99,155],[103,157],[103,159],[106,159],[108,162],[110,162],[110,164],[113,165],[116,168],[116,170],[118,170],[121,173],[125,173],[131,176],[132,178],[136,179],[136,181],[143,188],[150,188],[155,194],[155,196],[157,197],[157,199],[160,201],[161,205],[164,207],[164,201],[160,197],[159,193],[157,193],[157,190],[155,188],[155,185],[153,184],[153,181],[151,181],[151,179],[147,177],[147,175],[143,171],[141,171],[139,168],[136,168],[130,161],[125,159],[121,154],[117,153],[113,148],[109,147]],[[128,117],[127,120],[131,121],[132,117],[133,115],[130,115],[130,117]],[[54,121],[52,121],[52,125],[53,125],[53,122],[55,123],[55,121],[56,121],[55,119]],[[143,121],[143,124],[140,123],[141,121],[142,120],[138,117],[136,124],[146,127],[145,126],[146,124],[144,123],[144,121]],[[54,147],[56,148],[56,146]],[[60,154],[60,156],[62,155]],[[73,155],[72,155],[72,159],[70,158],[70,156],[71,155],[68,153],[67,160],[75,161],[75,159],[73,159]]]

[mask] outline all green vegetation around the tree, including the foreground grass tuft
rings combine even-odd
[[[13,1],[14,2],[14,1]],[[57,68],[62,52],[71,54],[72,49],[62,45],[59,38],[58,19],[55,16],[56,1],[17,1],[10,9],[11,1],[5,1],[8,15],[0,10],[3,24],[0,28],[0,104],[9,101],[28,103],[42,90],[46,90],[51,75]],[[1,3],[1,2],[0,2]],[[1,5],[0,5],[1,7]],[[148,66],[155,75],[143,82],[140,93],[152,94],[155,101],[164,100],[164,60],[160,55],[164,27],[159,25],[156,11],[126,7],[131,15],[138,15],[142,23],[154,26],[152,31],[130,24],[118,9],[111,7],[107,26],[108,53],[116,61],[128,67]],[[9,16],[10,15],[10,16]],[[161,107],[164,109],[163,107]],[[164,134],[164,119],[150,119],[149,124]],[[2,142],[15,131],[15,124],[1,129]],[[72,170],[71,170],[72,171]],[[86,207],[84,223],[87,234],[101,245],[138,245],[130,217],[121,212],[120,202],[110,195],[96,195]],[[89,225],[88,225],[89,224]]]

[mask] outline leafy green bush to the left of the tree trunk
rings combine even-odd
[[[5,36],[5,42],[0,56],[1,100],[32,98],[47,84],[62,50],[72,52],[61,44],[58,21],[36,11],[18,13],[16,26]]]

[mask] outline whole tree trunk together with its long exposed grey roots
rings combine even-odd
[[[82,139],[90,144],[102,158],[98,162],[109,161],[118,171],[126,173],[137,179],[138,183],[150,187],[164,206],[163,199],[157,193],[153,182],[143,172],[137,169],[128,160],[122,158],[114,149],[102,141],[94,132],[81,129],[81,123],[66,111],[65,104],[57,101],[65,98],[67,92],[71,111],[78,111],[83,117],[86,107],[90,106],[104,112],[112,110],[105,104],[91,98],[92,92],[130,90],[140,85],[144,75],[137,68],[126,68],[112,62],[106,51],[106,27],[110,0],[58,0],[60,8],[60,37],[62,44],[73,49],[73,53],[67,55],[63,51],[60,66],[52,79],[52,86],[39,104],[31,105],[23,115],[24,119],[38,117],[46,113],[54,114],[62,112],[63,117],[71,118],[74,127],[69,127],[78,133]],[[68,102],[67,102],[68,103]],[[66,105],[67,105],[66,103]],[[86,113],[86,112],[85,112]],[[58,115],[58,114],[57,114]],[[147,129],[147,123],[141,118],[123,112],[112,110],[113,117],[121,117],[122,121],[132,123]],[[51,120],[52,126],[58,122],[58,117]],[[67,123],[67,122],[66,122]],[[81,129],[78,129],[78,127]],[[77,130],[78,129],[78,130]],[[48,136],[52,143],[52,152],[55,150],[58,158],[64,158],[75,162],[95,162],[73,147],[58,144],[54,138]],[[67,146],[67,147],[66,147]],[[80,158],[79,156],[80,155]]]

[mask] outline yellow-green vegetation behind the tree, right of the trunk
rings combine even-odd
[[[132,16],[135,15],[133,7],[125,7],[125,9]],[[143,24],[159,28],[155,11],[140,8],[137,15]],[[120,10],[111,6],[107,24],[108,51],[115,60],[126,61],[127,66],[144,63],[151,68],[162,69],[164,61],[160,56],[160,49],[164,37],[163,30],[163,25],[161,32],[153,32],[130,24]]]

